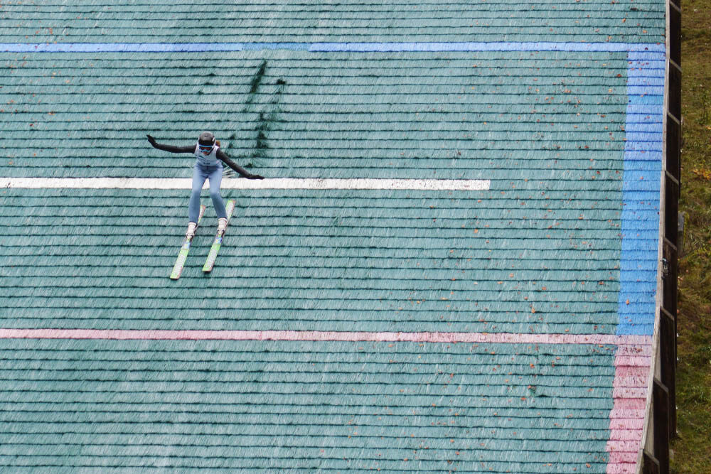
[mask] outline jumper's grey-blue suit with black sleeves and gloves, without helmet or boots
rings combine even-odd
[[[193,165],[193,188],[190,195],[190,203],[188,204],[188,222],[198,222],[198,213],[200,212],[200,193],[203,189],[205,180],[210,181],[210,198],[215,206],[215,213],[219,218],[226,218],[225,203],[222,195],[220,195],[220,184],[222,183],[223,162],[227,163],[230,168],[240,173],[248,179],[264,179],[262,176],[248,173],[245,168],[237,165],[230,157],[220,150],[220,147],[215,144],[210,153],[200,151],[199,144],[194,146],[171,146],[156,143],[153,137],[149,136],[149,141],[154,148],[169,151],[171,153],[193,153],[196,160]]]

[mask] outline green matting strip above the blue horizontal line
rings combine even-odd
[[[11,1],[0,43],[663,43],[663,2]]]

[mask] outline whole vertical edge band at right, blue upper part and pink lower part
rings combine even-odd
[[[656,264],[648,271],[641,262],[656,262],[657,244],[638,245],[646,229],[659,226],[659,193],[663,157],[662,51],[627,53],[627,109],[622,183],[619,323],[617,335],[643,335],[651,341],[656,315]],[[638,132],[636,130],[641,130]],[[644,190],[647,195],[640,196]],[[641,257],[640,252],[644,254]],[[653,275],[653,276],[651,276]],[[637,282],[651,285],[640,286]],[[634,304],[630,304],[634,301]],[[646,399],[651,377],[652,350],[635,344],[619,345],[615,352],[613,408],[607,474],[636,474],[644,433]]]

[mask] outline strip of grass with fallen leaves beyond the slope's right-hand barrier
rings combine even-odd
[[[683,152],[677,421],[678,474],[711,473],[711,0],[682,1]]]

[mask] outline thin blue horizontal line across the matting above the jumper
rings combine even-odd
[[[210,51],[292,50],[322,53],[445,51],[569,51],[644,55],[663,53],[658,43],[0,43],[7,53],[204,53]],[[644,59],[640,56],[638,59]]]

